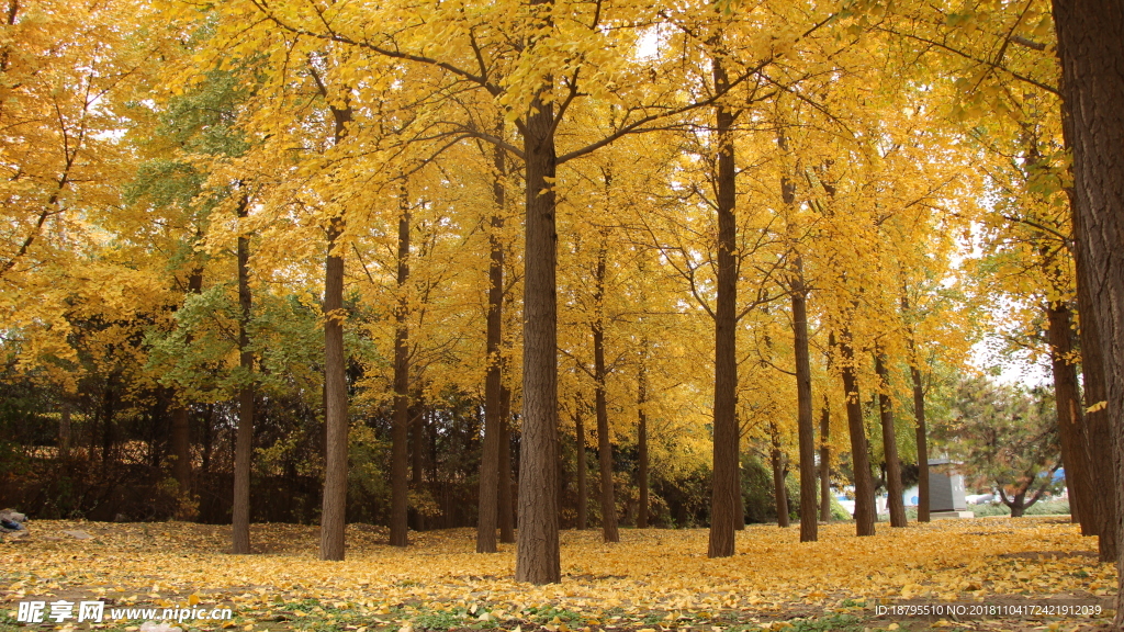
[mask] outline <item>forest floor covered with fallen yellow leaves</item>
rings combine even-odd
[[[821,525],[812,543],[799,542],[797,526],[752,525],[737,534],[737,554],[718,560],[706,557],[706,530],[625,529],[616,544],[596,530],[565,531],[562,583],[541,587],[514,580],[513,544],[477,554],[468,529],[411,533],[401,550],[382,527],[350,525],[343,562],[317,559],[315,526],[253,525],[253,556],[226,552],[229,526],[35,521],[29,529],[0,543],[0,631],[89,629],[74,617],[19,623],[19,604],[44,602],[49,616],[53,602],[102,601],[105,619],[93,628],[129,632],[156,629],[145,620],[160,622],[163,611],[146,617],[126,608],[175,607],[232,611],[229,621],[180,623],[184,631],[1068,632],[1109,622],[1116,592],[1115,569],[1097,562],[1096,540],[1068,516],[879,523],[862,539],[840,523]],[[1082,604],[1100,614],[1039,610]],[[913,614],[879,615],[895,605]],[[924,616],[925,607],[959,614]]]

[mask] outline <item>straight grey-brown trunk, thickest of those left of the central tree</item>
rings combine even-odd
[[[338,145],[352,120],[351,107],[332,108]],[[324,498],[320,512],[320,559],[344,559],[347,511],[347,377],[344,355],[345,218],[328,220],[328,255],[324,265]]]

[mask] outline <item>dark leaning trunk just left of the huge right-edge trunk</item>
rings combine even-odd
[[[1046,308],[1046,333],[1050,337],[1050,368],[1053,372],[1054,405],[1058,413],[1058,436],[1061,440],[1061,460],[1066,466],[1066,486],[1069,488],[1070,520],[1080,522],[1081,533],[1094,535],[1091,516],[1081,518],[1078,508],[1081,498],[1095,494],[1085,459],[1085,419],[1077,365],[1070,361],[1073,352],[1072,313],[1066,301],[1054,301]]]

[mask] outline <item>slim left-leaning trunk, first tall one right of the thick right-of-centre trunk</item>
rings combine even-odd
[[[792,344],[796,355],[796,427],[800,442],[800,542],[815,542],[816,522],[816,437],[812,419],[812,360],[808,355],[807,289],[804,264],[796,258],[791,279]]]

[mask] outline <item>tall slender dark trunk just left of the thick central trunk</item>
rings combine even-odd
[[[502,136],[502,127],[499,135]],[[484,444],[480,455],[480,515],[477,522],[477,552],[496,552],[496,527],[499,520],[499,451],[500,451],[500,405],[499,391],[502,387],[502,360],[500,344],[504,342],[504,244],[499,232],[504,228],[504,153],[496,147],[492,164],[496,180],[492,197],[496,210],[491,216],[491,233],[488,235],[490,256],[488,260],[488,374],[484,377]]]

